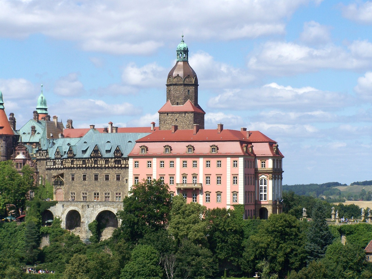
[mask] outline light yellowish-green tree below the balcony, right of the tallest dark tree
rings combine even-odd
[[[188,239],[195,244],[206,244],[206,207],[199,203],[187,203],[181,196],[173,198],[168,233],[178,244]]]

